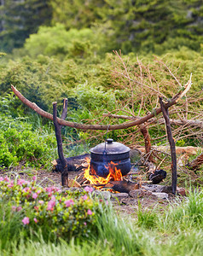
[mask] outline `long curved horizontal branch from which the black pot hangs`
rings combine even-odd
[[[190,75],[190,79],[188,80],[188,83],[185,85],[184,90],[178,92],[177,95],[173,96],[170,102],[165,103],[165,108],[170,108],[172,105],[176,104],[185,95],[184,92],[185,91],[187,92],[192,84],[191,78],[192,78],[192,74]],[[11,89],[14,91],[14,94],[20,99],[20,101],[26,104],[26,106],[28,106],[29,108],[32,108],[35,112],[37,112],[41,116],[47,119],[53,120],[53,115],[51,113],[48,113],[43,109],[39,108],[36,103],[30,102],[29,100],[27,100],[25,96],[20,94],[20,91],[17,90],[14,87],[14,85],[11,85]],[[152,119],[155,114],[157,115],[160,112],[161,112],[161,108],[156,108],[153,113],[148,113],[148,115],[140,119],[136,119],[131,122],[125,122],[119,125],[109,125],[109,126],[108,125],[85,125],[85,124],[69,122],[59,118],[57,118],[57,121],[58,121],[58,124],[60,125],[69,126],[69,127],[73,127],[81,130],[107,130],[107,128],[108,130],[120,130],[120,129],[130,128],[135,125],[141,125],[142,123],[148,121],[148,119]]]

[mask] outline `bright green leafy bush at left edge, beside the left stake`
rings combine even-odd
[[[17,166],[21,161],[28,166],[49,166],[55,157],[55,134],[32,131],[23,119],[0,115],[0,166]]]

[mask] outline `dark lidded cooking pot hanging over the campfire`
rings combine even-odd
[[[107,177],[108,167],[113,162],[116,169],[125,176],[131,171],[130,150],[124,144],[113,142],[113,139],[108,138],[105,143],[90,149],[90,172],[95,171],[98,176]]]

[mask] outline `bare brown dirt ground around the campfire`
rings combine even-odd
[[[80,171],[81,172],[81,171]],[[69,172],[68,178],[75,178],[80,172]],[[47,172],[44,170],[25,170],[20,168],[15,170],[0,170],[0,177],[20,177],[26,180],[32,180],[33,176],[37,176],[37,183],[42,187],[56,186],[61,189],[68,189],[61,186],[61,173],[59,172]],[[142,187],[141,187],[142,189]],[[111,193],[108,191],[96,191],[96,194],[102,194],[104,198],[110,199],[113,203],[113,208],[124,218],[131,216],[136,218],[136,210],[140,205],[142,209],[155,211],[163,211],[167,205],[174,200],[174,195],[168,195],[167,198],[159,198],[159,196],[152,195],[146,189],[143,189],[144,193],[139,193],[137,196],[130,196],[127,193]]]

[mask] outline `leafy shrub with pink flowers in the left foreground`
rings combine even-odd
[[[99,201],[93,201],[91,188],[87,192],[66,192],[48,187],[42,189],[23,179],[10,180],[0,177],[0,201],[7,203],[13,214],[19,214],[20,229],[29,235],[41,230],[44,239],[61,237],[69,240],[73,236],[87,238],[96,231],[96,214],[104,210]],[[1,223],[1,230],[6,222]],[[94,233],[93,233],[94,234]]]

